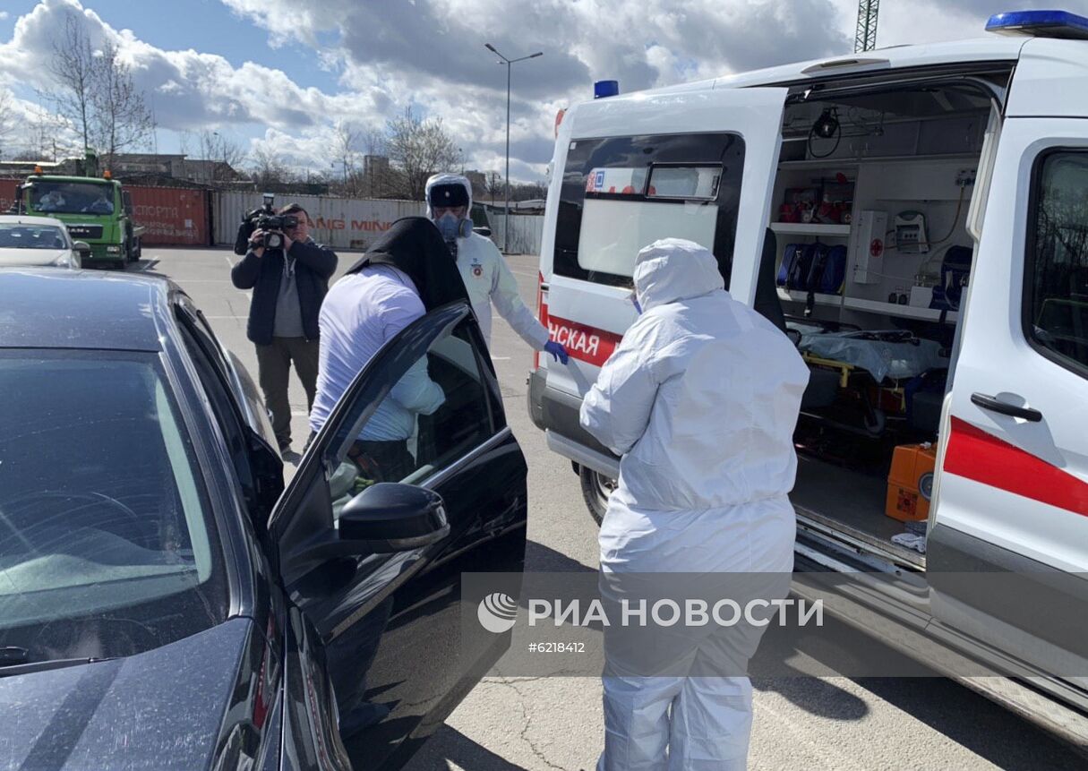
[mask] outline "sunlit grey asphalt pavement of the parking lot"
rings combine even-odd
[[[205,312],[223,345],[257,377],[246,339],[249,293],[232,286],[230,249],[147,247],[128,268],[171,277]],[[341,256],[339,272],[356,259]],[[526,302],[536,294],[536,258],[508,258]],[[570,462],[551,452],[529,420],[532,351],[496,316],[492,359],[507,421],[529,463],[527,569],[596,570],[596,525]],[[308,435],[306,397],[292,381],[294,448]],[[871,643],[876,648],[877,643]],[[799,651],[818,659],[818,652]],[[942,677],[756,680],[749,767],[868,771],[1083,769],[1085,758],[1030,723]],[[489,677],[412,759],[408,771],[576,771],[601,751],[601,684],[590,677]]]

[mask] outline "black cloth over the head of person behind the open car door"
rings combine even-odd
[[[394,222],[348,273],[358,273],[367,265],[393,265],[404,271],[419,289],[428,311],[455,300],[469,302],[469,293],[449,248],[425,216],[406,216]]]

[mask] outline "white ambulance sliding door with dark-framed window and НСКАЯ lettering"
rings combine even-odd
[[[734,296],[752,301],[786,95],[632,94],[567,112],[548,191],[541,316],[571,361],[541,357],[548,389],[581,397],[594,383],[635,318],[635,256],[658,238],[713,249]]]

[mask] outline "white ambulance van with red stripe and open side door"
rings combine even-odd
[[[1088,18],[987,32],[569,109],[539,299],[572,358],[536,362],[529,407],[599,520],[618,459],[578,411],[635,318],[635,254],[710,247],[813,373],[799,570],[895,576],[853,623],[939,670],[1015,663],[961,679],[1088,746]],[[1040,617],[1055,593],[1070,612]]]

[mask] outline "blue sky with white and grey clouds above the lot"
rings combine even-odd
[[[1088,0],[883,0],[878,46],[977,37],[1001,11]],[[543,176],[557,109],[615,78],[623,91],[852,50],[856,0],[3,0],[0,89],[29,113],[65,16],[112,40],[152,103],[160,152],[214,129],[329,171],[332,125],[441,116],[467,169],[502,170],[509,58],[510,175]],[[18,130],[0,152],[18,149]]]

